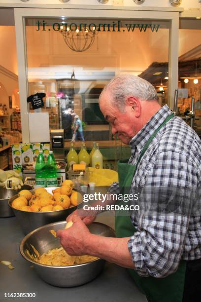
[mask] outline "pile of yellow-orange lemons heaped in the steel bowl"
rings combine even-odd
[[[33,194],[29,190],[21,190],[19,197],[13,200],[12,207],[27,212],[50,212],[64,210],[82,202],[82,195],[73,190],[73,182],[70,180],[65,180],[62,187],[54,189],[52,194],[45,188],[37,188]]]

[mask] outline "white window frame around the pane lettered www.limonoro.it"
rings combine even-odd
[[[157,8],[156,8],[157,9]],[[181,9],[180,9],[181,11]],[[168,103],[173,109],[174,91],[178,85],[178,39],[179,39],[179,11],[152,11],[136,10],[133,7],[121,7],[112,9],[99,8],[15,8],[15,30],[18,59],[18,76],[20,89],[20,110],[22,122],[22,141],[30,142],[29,115],[28,115],[28,72],[27,72],[27,47],[25,35],[25,18],[27,17],[62,17],[68,18],[99,18],[99,19],[146,19],[170,21],[169,28],[169,64],[168,64]]]

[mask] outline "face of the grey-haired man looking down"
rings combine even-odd
[[[124,144],[129,145],[131,139],[138,132],[134,126],[134,115],[129,106],[125,106],[124,113],[121,113],[114,104],[109,91],[103,92],[99,104],[100,110],[110,123],[112,134],[117,134]]]

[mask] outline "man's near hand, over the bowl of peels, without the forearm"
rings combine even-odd
[[[72,227],[59,229],[57,237],[60,237],[60,242],[69,255],[86,255],[91,233],[79,216],[74,216],[71,220]]]

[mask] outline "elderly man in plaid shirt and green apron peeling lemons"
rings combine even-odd
[[[160,207],[165,200],[170,209],[117,215],[117,238],[91,234],[85,225],[97,213],[87,215],[78,209],[67,218],[72,227],[58,231],[62,245],[70,255],[90,254],[129,268],[149,302],[196,301],[201,284],[201,213],[197,208],[189,212],[187,206],[177,211],[181,202],[175,211],[171,205],[174,208],[177,202],[176,193],[183,202],[184,189],[189,196],[190,189],[201,188],[201,140],[167,105],[161,108],[154,87],[136,76],[113,78],[101,92],[100,110],[112,133],[132,151],[129,161],[119,162],[119,184],[110,192],[137,188],[151,207]],[[162,189],[162,194],[156,198],[149,187]],[[195,198],[200,202],[200,196]]]

